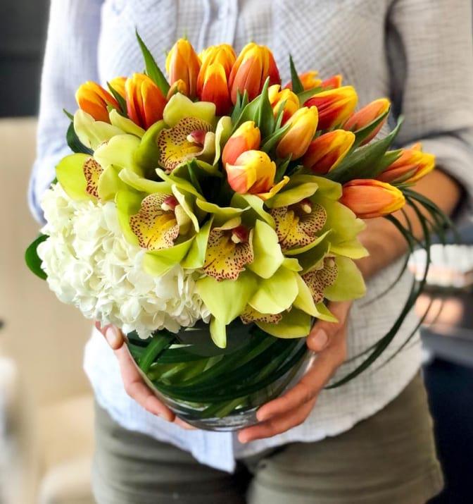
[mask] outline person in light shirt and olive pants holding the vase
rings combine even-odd
[[[104,85],[141,64],[135,28],[160,68],[163,48],[184,33],[198,51],[223,42],[239,50],[253,40],[279,62],[291,52],[297,68],[315,68],[324,78],[341,73],[361,104],[389,97],[393,115],[405,116],[399,144],[421,141],[436,155],[438,168],[417,190],[455,216],[471,205],[467,0],[455,9],[448,0],[51,0],[30,184],[39,221],[42,192],[68,153],[62,110],[75,109],[75,90],[85,80]],[[282,73],[289,81],[289,66]],[[422,235],[419,223],[413,231]],[[316,358],[308,372],[260,407],[258,424],[238,433],[189,429],[141,380],[120,330],[96,328],[84,367],[96,394],[92,474],[99,504],[420,504],[441,490],[418,337],[394,359],[385,352],[384,365],[325,388],[354,369],[351,357],[389,331],[410,288],[405,273],[384,293],[407,252],[391,223],[368,221],[360,239],[370,252],[358,262],[366,297],[330,306],[339,321],[315,323],[307,345]],[[392,351],[415,324],[410,314]]]

